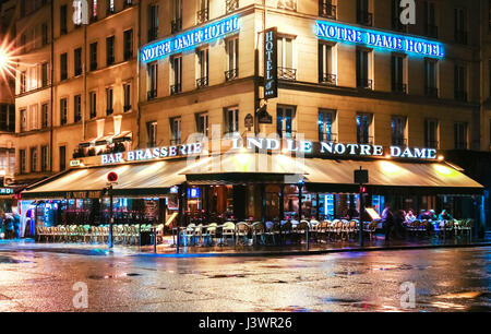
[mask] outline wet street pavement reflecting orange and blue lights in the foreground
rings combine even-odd
[[[0,252],[0,311],[491,311],[490,260],[491,248],[181,259]],[[88,309],[74,308],[79,282]],[[402,303],[410,296],[414,308]]]

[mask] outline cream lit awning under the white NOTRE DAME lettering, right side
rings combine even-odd
[[[417,164],[386,159],[306,159],[304,181],[312,191],[344,188],[356,192],[354,171],[360,167],[369,171],[369,190],[440,194],[469,194],[483,190],[481,184],[445,163]]]

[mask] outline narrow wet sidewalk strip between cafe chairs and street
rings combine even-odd
[[[285,255],[307,255],[324,254],[336,252],[354,251],[381,251],[381,250],[410,250],[410,249],[431,249],[431,248],[465,248],[465,247],[484,247],[491,246],[491,234],[487,234],[484,239],[468,239],[467,237],[452,239],[407,239],[393,240],[385,242],[382,235],[375,236],[371,241],[366,240],[363,247],[357,241],[332,241],[322,243],[311,243],[309,249],[307,244],[288,246],[213,246],[200,247],[182,246],[179,254],[176,253],[176,247],[171,237],[164,240],[164,244],[157,246],[157,252],[154,253],[153,246],[121,246],[116,244],[112,251],[109,251],[107,244],[91,243],[47,243],[35,242],[32,239],[21,240],[0,240],[0,251],[38,251],[56,252],[82,255],[115,255],[115,257],[159,257],[159,258],[211,258],[211,257],[285,257]]]

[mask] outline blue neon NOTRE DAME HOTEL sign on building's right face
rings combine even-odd
[[[406,35],[354,27],[349,25],[316,21],[315,36],[321,39],[338,40],[374,48],[408,52],[424,57],[445,56],[443,44]]]

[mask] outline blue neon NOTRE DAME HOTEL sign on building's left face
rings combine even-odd
[[[141,59],[142,62],[151,62],[166,56],[185,51],[190,48],[195,48],[201,44],[209,43],[216,38],[223,38],[238,31],[239,17],[237,15],[227,17],[201,28],[151,44],[142,48]]]

